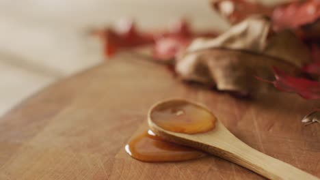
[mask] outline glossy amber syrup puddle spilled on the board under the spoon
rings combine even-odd
[[[206,155],[196,149],[167,142],[151,130],[133,138],[125,149],[131,157],[144,162],[178,162]]]

